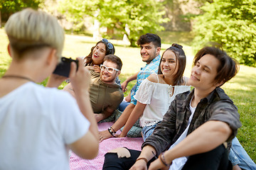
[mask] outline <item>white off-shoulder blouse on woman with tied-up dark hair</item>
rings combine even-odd
[[[143,115],[139,119],[139,125],[150,126],[161,121],[175,96],[190,90],[191,86],[171,86],[160,84],[159,79],[157,83],[144,79],[134,96],[137,101],[146,104]]]

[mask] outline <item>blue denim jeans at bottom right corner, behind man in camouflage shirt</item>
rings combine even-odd
[[[249,155],[243,149],[242,145],[238,141],[238,138],[235,137],[232,141],[232,146],[230,148],[230,154],[228,156],[230,162],[233,166],[238,164],[241,169],[245,170],[255,170],[256,164],[250,159]]]

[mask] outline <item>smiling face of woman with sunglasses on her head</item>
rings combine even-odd
[[[103,42],[98,43],[92,50],[92,61],[93,64],[102,64],[106,55],[106,46]]]

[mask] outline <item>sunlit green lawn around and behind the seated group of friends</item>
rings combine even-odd
[[[187,36],[188,33],[178,33],[174,35],[173,33],[159,33],[163,42],[162,50],[165,50],[171,45],[172,42],[178,42],[183,45],[183,50],[186,52],[187,64],[185,75],[189,77],[191,72],[191,63],[193,61],[192,47],[190,45],[191,38],[182,38],[182,36]],[[90,52],[92,45],[95,45],[97,40],[93,40],[87,36],[78,35],[66,35],[65,37],[65,47],[63,50],[63,56],[65,57],[79,57],[87,55]],[[110,40],[115,45],[115,55],[121,58],[123,62],[122,74],[120,74],[119,79],[124,81],[127,77],[131,76],[135,72],[138,72],[140,67],[145,65],[142,62],[139,55],[139,48],[137,47],[126,47],[121,40]],[[7,38],[3,29],[0,29],[0,76],[4,74],[9,63],[11,62],[11,57],[9,57],[7,52]],[[242,122],[242,128],[238,130],[238,139],[240,143],[245,148],[250,157],[256,161],[256,68],[246,67],[244,65],[240,66],[240,72],[238,75],[231,79],[228,83],[223,86],[225,92],[233,99],[236,106],[238,106],[238,111],[240,113],[240,120]],[[46,81],[41,84],[45,85]],[[135,81],[132,81],[128,85],[128,89],[132,89]],[[65,83],[63,83],[59,89],[63,89]],[[127,94],[125,94],[127,95]]]

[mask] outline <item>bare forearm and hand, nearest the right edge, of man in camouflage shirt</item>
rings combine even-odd
[[[232,132],[233,130],[231,130],[227,123],[210,120],[191,132],[176,147],[166,151],[164,153],[166,163],[171,164],[178,157],[188,157],[193,154],[209,152],[228,140]],[[161,163],[160,159],[156,159],[156,161],[152,162],[149,169],[161,168],[164,168],[164,164]]]

